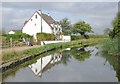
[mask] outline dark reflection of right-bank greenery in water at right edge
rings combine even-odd
[[[101,57],[105,58],[105,63],[109,62],[111,66],[113,66],[114,70],[116,71],[116,77],[118,78],[118,81],[120,82],[120,57],[115,57],[112,55],[109,55],[107,53],[99,52],[97,55],[100,55]]]

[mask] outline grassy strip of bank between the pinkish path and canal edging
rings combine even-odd
[[[34,56],[39,53],[45,52],[50,49],[57,49],[57,48],[66,48],[68,46],[72,45],[92,45],[92,44],[97,44],[101,43],[104,39],[84,39],[84,40],[77,40],[77,41],[71,41],[71,42],[65,42],[65,43],[57,43],[57,44],[47,44],[45,46],[41,46],[39,48],[32,48],[28,50],[23,50],[23,51],[12,51],[12,52],[3,52],[2,53],[2,62],[7,63],[11,62],[14,60],[20,60],[23,57],[26,56]],[[81,44],[82,43],[82,44]]]

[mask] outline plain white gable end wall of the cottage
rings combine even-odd
[[[35,18],[35,15],[37,15],[37,19]],[[36,12],[31,19],[23,27],[22,32],[34,36],[34,38],[37,39],[36,34],[41,32],[41,17]],[[51,27],[43,19],[42,19],[42,32],[52,33]]]

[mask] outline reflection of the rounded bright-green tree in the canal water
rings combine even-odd
[[[92,51],[85,51],[84,48],[72,48],[72,55],[75,59],[82,62],[85,61],[86,58],[89,58],[91,56]]]

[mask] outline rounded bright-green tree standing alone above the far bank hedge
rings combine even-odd
[[[90,24],[86,24],[84,21],[79,21],[77,23],[74,24],[73,26],[73,33],[80,33],[81,35],[85,36],[86,32],[91,32],[92,31],[92,27],[90,26]]]

